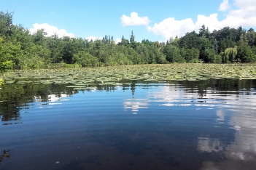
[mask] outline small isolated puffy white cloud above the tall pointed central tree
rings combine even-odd
[[[131,12],[131,17],[123,15],[121,17],[121,22],[124,27],[131,25],[148,25],[150,20],[148,17],[139,17],[136,12]]]

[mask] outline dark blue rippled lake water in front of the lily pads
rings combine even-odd
[[[66,86],[1,86],[0,169],[256,169],[255,80]]]

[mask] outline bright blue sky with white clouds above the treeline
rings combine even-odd
[[[0,0],[0,11],[15,12],[13,23],[30,28],[44,28],[50,36],[75,36],[101,39],[113,36],[117,41],[166,41],[198,31],[205,24],[209,30],[224,26],[255,28],[255,0]]]

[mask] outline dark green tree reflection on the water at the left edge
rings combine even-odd
[[[0,117],[2,125],[20,124],[20,109],[29,109],[34,102],[51,102],[62,96],[77,94],[66,85],[55,84],[7,84],[0,90]],[[53,99],[52,99],[53,97]]]

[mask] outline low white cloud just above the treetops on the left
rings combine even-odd
[[[57,34],[59,37],[63,37],[63,36],[74,37],[73,33],[67,33],[66,30],[58,29],[57,27],[53,25],[49,25],[47,23],[43,23],[43,24],[35,23],[33,25],[33,28],[30,28],[29,31],[31,33],[36,33],[36,31],[40,29],[44,29],[44,31],[47,33],[46,36],[53,36]]]

